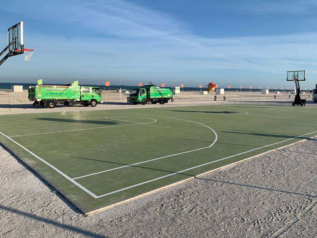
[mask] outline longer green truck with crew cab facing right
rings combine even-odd
[[[29,100],[33,106],[41,105],[44,108],[54,108],[56,104],[97,106],[102,103],[99,87],[79,86],[78,81],[67,85],[38,85],[29,87]]]

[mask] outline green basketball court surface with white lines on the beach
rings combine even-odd
[[[292,106],[187,106],[0,116],[0,141],[83,213],[317,134]]]

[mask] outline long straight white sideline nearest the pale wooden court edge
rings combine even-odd
[[[283,143],[283,142],[286,142],[286,141],[289,141],[289,140],[292,140],[292,139],[296,139],[296,138],[299,138],[299,137],[302,137],[302,136],[307,136],[307,135],[312,134],[312,133],[315,133],[315,132],[317,132],[317,131],[310,132],[310,133],[307,133],[307,134],[304,134],[304,135],[301,135],[301,136],[296,136],[296,137],[294,137],[294,138],[286,139],[286,140],[283,140],[283,141],[280,141],[280,142],[276,142],[276,143],[273,143],[273,144],[270,144],[270,145],[265,145],[265,146],[262,146],[262,147],[258,147],[258,148],[255,148],[255,149],[252,149],[252,150],[249,150],[249,151],[245,151],[245,152],[242,152],[242,153],[238,153],[238,154],[236,154],[236,155],[231,155],[231,156],[228,156],[228,157],[225,157],[225,158],[222,158],[222,159],[217,159],[217,160],[214,160],[214,161],[205,163],[205,164],[200,164],[200,165],[197,165],[197,166],[194,166],[194,167],[185,169],[185,170],[181,170],[181,171],[178,171],[178,172],[175,172],[175,173],[171,173],[171,174],[167,174],[167,175],[164,175],[164,176],[161,176],[161,177],[158,177],[158,178],[154,178],[154,179],[151,179],[151,180],[147,180],[147,181],[142,182],[142,183],[137,183],[137,184],[134,184],[134,185],[129,186],[129,187],[126,187],[126,188],[122,188],[122,189],[119,189],[119,190],[115,190],[115,191],[112,191],[112,192],[105,193],[105,194],[103,194],[103,195],[97,196],[97,198],[104,197],[104,196],[108,196],[108,195],[110,195],[110,194],[114,194],[114,193],[117,193],[117,192],[121,192],[121,191],[130,189],[130,188],[134,188],[134,187],[140,186],[140,185],[142,185],[142,184],[150,183],[150,182],[153,182],[153,181],[156,181],[156,180],[159,180],[159,179],[162,179],[162,178],[166,178],[166,177],[169,177],[169,176],[172,176],[172,175],[175,175],[175,174],[180,174],[180,173],[183,173],[183,172],[185,172],[185,171],[192,170],[192,169],[196,169],[196,168],[199,168],[199,167],[201,167],[201,166],[208,165],[208,164],[216,163],[216,162],[218,162],[218,161],[222,161],[222,160],[225,160],[225,159],[228,159],[228,158],[236,157],[236,156],[238,156],[238,155],[243,155],[243,154],[245,154],[245,153],[249,153],[249,152],[251,152],[251,151],[259,150],[259,149],[262,149],[262,148],[265,148],[265,147],[268,147],[268,146],[271,146],[271,145],[277,145],[277,144],[280,144],[280,143]]]

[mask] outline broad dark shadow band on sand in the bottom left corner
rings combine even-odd
[[[74,226],[71,226],[71,225],[66,225],[66,224],[51,220],[51,219],[44,218],[44,217],[39,217],[37,215],[31,214],[31,213],[27,213],[27,212],[23,212],[23,211],[19,211],[17,209],[13,209],[13,208],[1,205],[1,204],[0,204],[0,209],[8,211],[10,213],[16,213],[16,214],[18,214],[20,216],[28,217],[27,220],[33,219],[33,220],[37,220],[39,222],[52,224],[55,227],[67,229],[67,230],[70,230],[70,231],[85,235],[85,237],[87,236],[87,237],[94,237],[94,238],[108,238],[107,236],[94,234],[94,233],[92,233],[90,231],[87,231],[87,230],[84,230],[84,229],[81,229],[81,228],[78,228],[78,227],[74,227]],[[75,235],[75,234],[73,234],[73,235]],[[71,237],[73,237],[73,236],[71,236]]]

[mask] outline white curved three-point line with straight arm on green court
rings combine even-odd
[[[116,114],[117,114],[117,113],[116,113]],[[125,113],[124,113],[124,114],[125,114]],[[139,114],[136,114],[136,115],[139,115]],[[147,116],[147,115],[143,115],[143,116]],[[165,117],[165,116],[154,116],[154,117]],[[172,157],[172,156],[176,156],[176,155],[186,154],[186,153],[193,152],[193,151],[199,151],[199,150],[207,149],[207,148],[210,148],[211,146],[213,146],[213,145],[216,143],[217,139],[218,139],[218,135],[217,135],[217,133],[214,131],[214,129],[210,128],[210,127],[207,126],[207,125],[204,125],[204,124],[199,123],[199,122],[196,122],[196,121],[190,121],[190,120],[185,120],[185,119],[179,119],[179,118],[173,118],[173,117],[166,117],[166,118],[177,119],[177,120],[182,120],[182,121],[189,121],[189,122],[193,122],[193,123],[197,123],[197,124],[203,125],[203,126],[209,128],[212,132],[214,132],[214,134],[215,134],[215,140],[214,140],[209,146],[207,146],[207,147],[203,147],[203,148],[199,148],[199,149],[195,149],[195,150],[191,150],[191,151],[184,151],[184,152],[180,152],[180,153],[177,153],[177,154],[167,155],[167,156],[163,156],[163,157],[159,157],[159,158],[155,158],[155,159],[149,159],[149,160],[142,161],[142,162],[138,162],[138,163],[134,163],[134,164],[127,164],[127,165],[120,166],[120,167],[116,167],[116,168],[113,168],[113,169],[102,170],[102,171],[99,171],[99,172],[96,172],[96,173],[91,173],[91,174],[83,175],[83,176],[76,177],[76,178],[73,178],[73,179],[84,178],[84,177],[88,177],[88,176],[92,176],[92,175],[96,175],[96,174],[101,174],[101,173],[105,173],[105,172],[112,171],[112,170],[118,170],[118,169],[126,168],[126,167],[133,166],[133,165],[137,165],[137,164],[147,163],[147,162],[154,161],[154,160],[158,160],[158,159],[168,158],[168,157]]]

